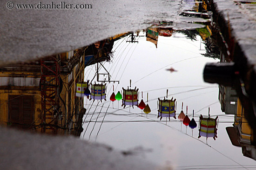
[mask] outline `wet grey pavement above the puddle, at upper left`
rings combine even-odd
[[[88,0],[92,9],[59,10],[8,9],[7,2],[0,2],[0,65],[75,50],[119,33],[147,28],[154,21],[173,21],[180,11],[178,0]],[[83,0],[65,2],[84,4]],[[13,0],[14,5],[22,3],[39,1]]]

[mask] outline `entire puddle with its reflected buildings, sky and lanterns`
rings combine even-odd
[[[255,169],[254,105],[206,4],[185,5],[181,16],[196,22],[156,22],[0,68],[0,124],[175,170]]]

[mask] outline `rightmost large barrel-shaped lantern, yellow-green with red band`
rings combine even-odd
[[[202,114],[200,115],[199,118],[199,136],[198,138],[200,138],[201,136],[209,138],[213,138],[214,140],[216,140],[217,138],[217,119],[218,116],[213,119],[210,118],[210,114],[208,115],[208,117],[203,117]]]

